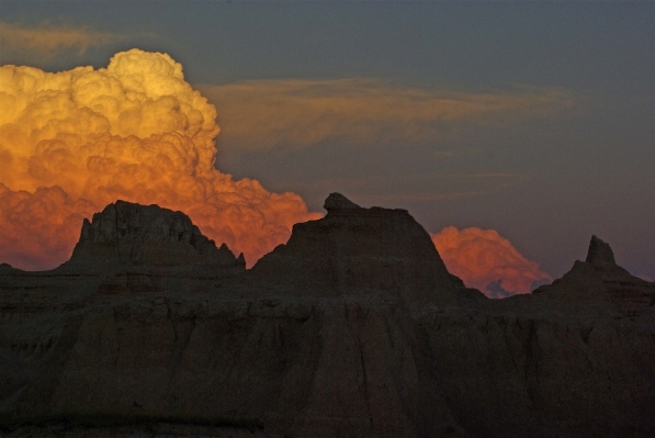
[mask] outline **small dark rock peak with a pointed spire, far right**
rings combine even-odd
[[[655,283],[633,277],[618,266],[612,248],[596,236],[591,236],[586,261],[576,261],[561,280],[540,287],[534,293],[562,301],[606,303],[626,316],[639,316],[655,304]]]

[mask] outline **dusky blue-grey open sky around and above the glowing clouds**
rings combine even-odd
[[[655,279],[655,2],[0,1],[0,22],[116,36],[50,54],[0,42],[1,64],[56,71],[104,67],[132,47],[168,53],[217,106],[217,168],[296,192],[313,210],[340,191],[406,207],[429,232],[494,228],[553,277],[596,234],[619,263]],[[556,102],[415,124],[394,113],[354,123],[391,126],[363,136],[338,119],[335,135],[280,134],[258,147],[241,125],[263,123],[225,91],[245,80],[262,101],[271,80],[318,85],[313,98],[357,94],[368,80],[366,97]],[[408,125],[431,134],[404,137]]]

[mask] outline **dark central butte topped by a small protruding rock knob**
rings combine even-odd
[[[410,303],[456,302],[456,282],[406,210],[363,209],[339,193],[325,207],[325,217],[294,225],[286,245],[262,257],[251,282],[290,294],[388,291]]]

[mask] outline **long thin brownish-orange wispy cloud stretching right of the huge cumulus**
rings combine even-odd
[[[307,147],[350,143],[424,142],[452,135],[464,123],[498,125],[575,105],[556,88],[464,93],[398,87],[376,79],[249,80],[199,86],[216,103],[221,142],[242,149],[278,144]]]

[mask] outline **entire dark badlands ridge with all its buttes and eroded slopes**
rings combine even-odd
[[[655,436],[655,283],[609,245],[489,300],[407,211],[325,207],[250,270],[122,201],[0,266],[0,436]]]

